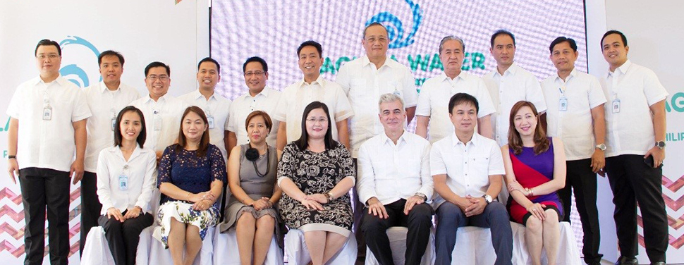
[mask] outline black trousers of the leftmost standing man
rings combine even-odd
[[[45,210],[47,207],[50,264],[68,264],[69,256],[69,173],[49,168],[19,170],[21,202],[24,207],[25,265],[43,263]]]

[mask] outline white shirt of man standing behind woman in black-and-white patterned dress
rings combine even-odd
[[[286,122],[288,142],[302,136],[302,115],[306,106],[313,101],[321,101],[328,106],[333,140],[339,141],[336,123],[354,115],[347,95],[336,82],[325,80],[323,76],[311,84],[304,80],[295,82],[283,90],[274,115],[276,120]]]

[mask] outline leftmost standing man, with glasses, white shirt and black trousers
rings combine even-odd
[[[50,264],[68,264],[69,178],[83,178],[90,109],[83,90],[59,74],[57,42],[42,39],[35,57],[40,75],[19,85],[7,108],[8,173],[21,188],[24,264],[43,264],[46,207]]]

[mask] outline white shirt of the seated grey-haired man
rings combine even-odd
[[[359,149],[359,199],[366,203],[377,197],[386,205],[408,199],[420,192],[432,198],[430,143],[423,137],[404,131],[396,144],[383,132]]]

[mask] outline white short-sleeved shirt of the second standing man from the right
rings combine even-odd
[[[594,154],[592,109],[606,103],[599,80],[573,69],[563,80],[558,74],[542,81],[546,99],[546,135],[563,140],[566,159],[590,159]],[[561,103],[566,106],[561,107]]]

